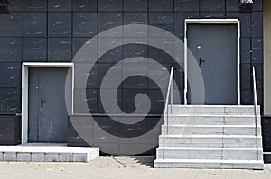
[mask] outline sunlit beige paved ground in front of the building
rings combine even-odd
[[[154,157],[98,157],[89,163],[0,163],[0,178],[270,179],[265,170],[154,168]]]

